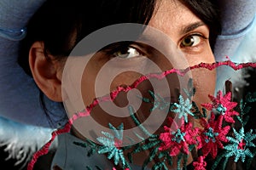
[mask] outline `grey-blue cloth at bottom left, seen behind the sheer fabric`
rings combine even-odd
[[[81,139],[78,139],[71,135],[70,133],[63,133],[59,136],[58,149],[55,152],[54,160],[52,161],[51,169],[58,165],[61,169],[112,169],[113,163],[108,160],[107,156],[94,153],[92,156],[87,156],[90,152],[90,147],[84,148],[77,144],[77,142],[83,144]],[[131,164],[132,170],[140,170],[142,167]],[[148,170],[148,168],[145,168]]]

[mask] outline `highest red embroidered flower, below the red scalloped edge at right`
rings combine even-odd
[[[212,111],[213,109],[217,111],[220,115],[224,116],[226,122],[235,122],[232,116],[238,116],[239,113],[234,111],[236,107],[236,102],[231,102],[231,93],[225,94],[223,96],[221,91],[218,91],[217,97],[209,94],[209,98],[212,100],[212,104],[202,104],[207,110]]]

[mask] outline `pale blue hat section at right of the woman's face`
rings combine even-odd
[[[256,1],[218,0],[218,3],[222,12],[222,35],[217,39],[214,55],[220,61],[226,60],[225,56],[232,59],[244,36],[252,29]]]

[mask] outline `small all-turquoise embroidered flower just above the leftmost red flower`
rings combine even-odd
[[[179,96],[178,102],[179,104],[174,103],[176,109],[172,111],[178,114],[179,119],[183,117],[184,121],[188,122],[188,115],[194,116],[191,111],[192,104],[189,99],[184,100],[182,95]]]

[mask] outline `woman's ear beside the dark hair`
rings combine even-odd
[[[53,56],[44,54],[44,42],[34,42],[29,51],[29,65],[38,88],[57,102],[61,97],[61,68]]]

